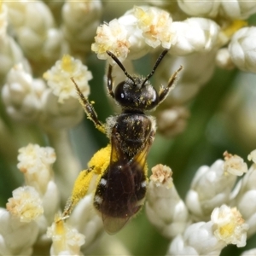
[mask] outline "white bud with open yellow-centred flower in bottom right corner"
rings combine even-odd
[[[214,209],[210,221],[190,224],[176,236],[167,255],[219,255],[230,243],[244,247],[246,231],[240,212],[223,205]]]

